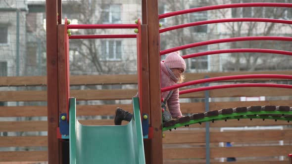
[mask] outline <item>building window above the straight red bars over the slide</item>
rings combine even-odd
[[[103,4],[102,7],[103,23],[121,23],[121,5],[120,4]]]

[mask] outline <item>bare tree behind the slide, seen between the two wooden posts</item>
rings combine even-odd
[[[109,13],[103,9],[108,8],[109,5],[110,2],[107,3],[103,0],[72,0],[68,2],[64,12],[67,13],[68,19],[70,17],[77,19],[78,24],[104,24],[104,19],[109,17]],[[108,34],[108,31],[106,29],[86,29],[72,32],[72,35]],[[131,68],[135,67],[136,61],[133,58],[130,59],[127,54],[119,60],[107,60],[104,55],[111,52],[102,49],[101,41],[104,39],[70,40],[70,50],[73,52],[72,58],[74,59],[73,62],[70,61],[70,71],[73,74],[125,74],[136,70]],[[115,40],[111,39],[109,44],[112,41]],[[121,45],[119,48],[122,48]],[[136,52],[133,53],[136,54]]]

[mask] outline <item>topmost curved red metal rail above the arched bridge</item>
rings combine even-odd
[[[212,6],[203,6],[197,8],[190,8],[185,10],[179,10],[169,13],[160,14],[158,16],[159,19],[167,18],[171,16],[187,14],[192,12],[199,12],[199,11],[208,11],[208,10],[215,10],[215,9],[223,9],[223,8],[237,8],[237,7],[292,7],[292,3],[233,3],[233,4],[219,4],[219,5],[212,5]]]

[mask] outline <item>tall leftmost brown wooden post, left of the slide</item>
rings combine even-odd
[[[60,144],[57,138],[58,114],[58,46],[57,0],[46,0],[47,34],[47,102],[48,102],[48,162],[60,163]]]

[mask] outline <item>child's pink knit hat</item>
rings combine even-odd
[[[167,55],[164,60],[164,64],[168,68],[182,68],[184,69],[183,72],[186,70],[185,60],[180,56],[179,51],[171,52],[169,55]]]

